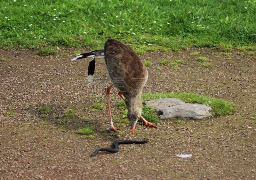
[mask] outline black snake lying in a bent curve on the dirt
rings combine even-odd
[[[118,144],[144,144],[147,140],[116,140],[113,142],[114,148],[99,148],[96,149],[91,156],[96,156],[99,151],[106,151],[110,153],[117,153],[119,151]]]

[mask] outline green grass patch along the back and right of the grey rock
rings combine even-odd
[[[194,93],[143,93],[142,94],[142,100],[148,101],[152,99],[158,99],[158,98],[164,98],[164,97],[170,97],[170,98],[178,98],[186,103],[199,103],[199,104],[205,104],[209,105],[213,109],[213,115],[215,116],[223,116],[223,115],[229,115],[231,112],[235,110],[235,104],[232,102],[225,101],[223,99],[218,98],[209,98],[204,97],[198,94]]]

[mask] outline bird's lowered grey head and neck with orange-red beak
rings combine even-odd
[[[142,112],[142,101],[141,98],[137,97],[131,99],[128,104],[129,105],[126,104],[128,108],[127,116],[131,123],[132,134],[134,134],[135,126]]]

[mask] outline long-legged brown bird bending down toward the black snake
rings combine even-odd
[[[90,61],[88,66],[87,78],[87,81],[90,83],[93,82],[95,59],[105,59],[106,62],[107,73],[111,82],[111,84],[106,88],[110,124],[109,131],[119,131],[119,129],[114,127],[110,110],[109,95],[112,86],[119,90],[118,95],[124,100],[128,109],[127,117],[131,123],[132,134],[134,134],[135,126],[139,118],[147,127],[151,126],[157,128],[154,123],[148,122],[141,116],[141,94],[144,85],[148,80],[148,70],[140,56],[135,53],[132,48],[124,45],[118,40],[108,39],[105,42],[104,49],[77,54],[76,58],[71,59],[71,61],[87,57],[92,58],[92,61]]]

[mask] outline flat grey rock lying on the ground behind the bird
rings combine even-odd
[[[143,103],[156,109],[160,119],[189,118],[203,119],[212,116],[212,108],[203,104],[185,103],[177,98],[161,98]]]

